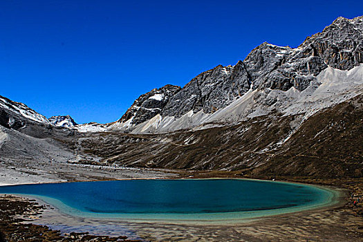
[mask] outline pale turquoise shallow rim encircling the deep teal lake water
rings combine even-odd
[[[138,216],[138,214],[124,214],[126,217],[122,217],[122,214],[99,214],[99,213],[92,213],[92,212],[81,212],[73,207],[70,207],[64,204],[62,201],[59,201],[50,196],[40,196],[35,194],[12,194],[14,196],[21,196],[30,199],[36,199],[44,205],[51,205],[54,207],[55,210],[59,212],[59,214],[67,214],[68,216],[72,217],[80,217],[80,218],[93,218],[99,219],[102,221],[131,221],[133,223],[148,223],[148,222],[155,222],[155,223],[176,223],[176,224],[216,224],[216,225],[223,225],[223,224],[239,224],[239,223],[248,223],[250,221],[255,221],[257,219],[268,218],[272,216],[279,216],[281,214],[292,214],[297,212],[304,212],[310,210],[321,210],[326,207],[336,207],[344,205],[344,194],[345,192],[342,189],[326,187],[321,185],[306,185],[304,183],[292,183],[286,181],[277,181],[277,180],[261,180],[261,179],[252,179],[252,178],[165,178],[161,180],[248,180],[248,181],[257,181],[263,183],[280,183],[280,184],[292,184],[292,185],[303,185],[307,187],[315,187],[317,189],[322,189],[331,194],[327,201],[319,202],[313,205],[299,205],[297,207],[286,207],[283,209],[272,209],[272,210],[261,210],[261,211],[241,211],[241,212],[211,212],[205,214],[169,214],[169,216],[161,216],[160,214],[149,214],[149,216]],[[119,179],[119,180],[159,180],[159,179]],[[111,181],[111,180],[108,180]],[[118,180],[113,180],[118,181]],[[92,183],[95,181],[85,181],[82,183]],[[47,183],[52,184],[52,183]],[[57,183],[53,183],[57,184]],[[250,213],[250,216],[246,216],[245,212]],[[134,217],[133,217],[134,216]],[[167,218],[163,218],[167,217]],[[198,217],[198,218],[197,218]],[[202,218],[201,218],[202,217]]]

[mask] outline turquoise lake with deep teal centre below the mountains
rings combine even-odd
[[[120,218],[243,218],[326,205],[314,186],[241,179],[113,180],[0,187],[39,196],[64,212]]]

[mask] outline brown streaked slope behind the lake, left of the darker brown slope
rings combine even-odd
[[[265,157],[290,132],[295,117],[256,118],[233,127],[154,135],[103,133],[82,139],[79,149],[107,162],[173,169],[239,169]]]

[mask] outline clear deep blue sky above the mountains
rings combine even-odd
[[[0,0],[0,95],[48,118],[113,122],[153,88],[359,15],[358,0]]]

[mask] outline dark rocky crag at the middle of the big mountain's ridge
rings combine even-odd
[[[171,97],[162,115],[179,118],[190,110],[198,112],[202,109],[213,113],[245,94],[250,85],[251,77],[243,62],[234,66],[216,66],[195,77]]]

